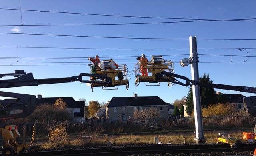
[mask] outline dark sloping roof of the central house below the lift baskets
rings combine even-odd
[[[158,96],[113,97],[108,107],[168,105]]]

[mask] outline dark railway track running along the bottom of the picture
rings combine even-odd
[[[143,154],[195,154],[214,152],[245,152],[254,151],[256,144],[242,144],[238,148],[230,148],[230,144],[197,144],[197,145],[159,145],[134,147],[106,147],[79,150],[54,150],[41,152],[24,152],[19,156],[127,156]],[[1,154],[2,155],[2,154]]]

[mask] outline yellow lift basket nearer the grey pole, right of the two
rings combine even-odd
[[[141,66],[144,66],[148,70],[148,76],[142,76],[140,72]],[[141,64],[138,62],[134,68],[135,70],[135,86],[138,86],[140,82],[149,82],[149,83],[158,83],[158,85],[149,85],[148,86],[160,86],[160,82],[168,82],[168,86],[174,85],[172,80],[173,76],[164,76],[164,79],[157,78],[157,75],[163,71],[174,73],[174,64],[171,61],[163,60],[162,56],[152,56],[151,61],[148,64]]]

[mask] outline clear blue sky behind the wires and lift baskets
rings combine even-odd
[[[159,96],[172,103],[175,99],[186,96],[189,88],[178,84],[168,88],[166,83],[161,83],[160,86],[145,86],[145,83],[141,83],[135,87],[133,69],[137,62],[136,57],[144,53],[150,60],[152,55],[165,55],[165,60],[171,59],[174,62],[176,74],[191,79],[190,66],[179,65],[180,60],[190,56],[190,36],[197,36],[198,39],[199,76],[210,74],[211,80],[216,84],[256,87],[256,20],[251,19],[256,18],[255,7],[255,0],[1,0],[0,73],[24,70],[27,73],[32,72],[35,79],[78,76],[80,73],[90,72],[87,57],[99,55],[101,60],[112,58],[118,64],[127,64],[132,75],[128,90],[125,86],[118,86],[118,90],[104,91],[99,87],[92,92],[90,86],[73,82],[4,88],[1,91],[41,94],[43,97],[74,97],[76,100],[84,98],[87,102],[107,102],[112,97],[133,96],[136,93],[138,96]],[[234,19],[250,20],[231,21]],[[154,24],[84,25],[114,23]],[[60,26],[67,24],[72,26]],[[74,26],[75,24],[77,25]],[[78,26],[79,24],[82,25]],[[127,39],[129,37],[157,39]],[[77,58],[52,59],[57,57]],[[215,90],[226,94],[239,94],[238,91]],[[241,94],[255,96],[250,93]]]

